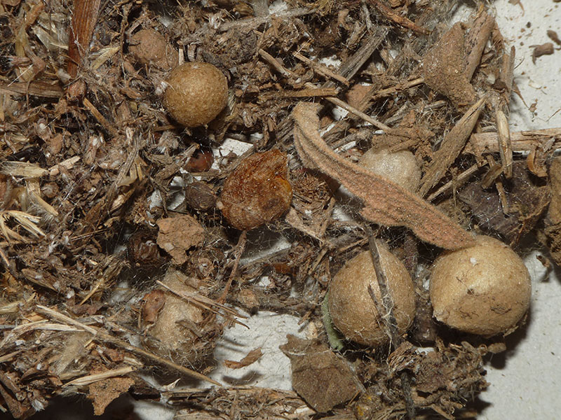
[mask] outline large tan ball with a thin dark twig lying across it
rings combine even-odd
[[[413,282],[396,255],[383,246],[379,247],[379,251],[393,299],[393,315],[402,334],[415,316]],[[333,277],[329,288],[329,311],[334,325],[345,337],[367,346],[379,346],[388,342],[389,338],[368,293],[369,284],[381,302],[372,255],[370,251],[364,251],[346,262]]]

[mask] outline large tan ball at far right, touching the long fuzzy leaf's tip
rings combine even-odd
[[[433,265],[434,316],[479,335],[507,332],[526,313],[531,295],[527,268],[501,241],[480,236],[477,245],[447,252]]]

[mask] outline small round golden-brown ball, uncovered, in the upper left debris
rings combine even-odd
[[[165,109],[187,127],[214,120],[228,102],[228,81],[215,66],[189,62],[175,67],[165,80]]]

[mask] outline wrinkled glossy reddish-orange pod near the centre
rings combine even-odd
[[[273,149],[245,158],[222,189],[222,214],[239,230],[250,230],[282,216],[290,207],[287,156]]]

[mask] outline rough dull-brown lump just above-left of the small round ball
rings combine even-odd
[[[128,50],[140,64],[153,64],[161,69],[171,69],[177,64],[177,50],[154,29],[141,29],[130,37]]]

